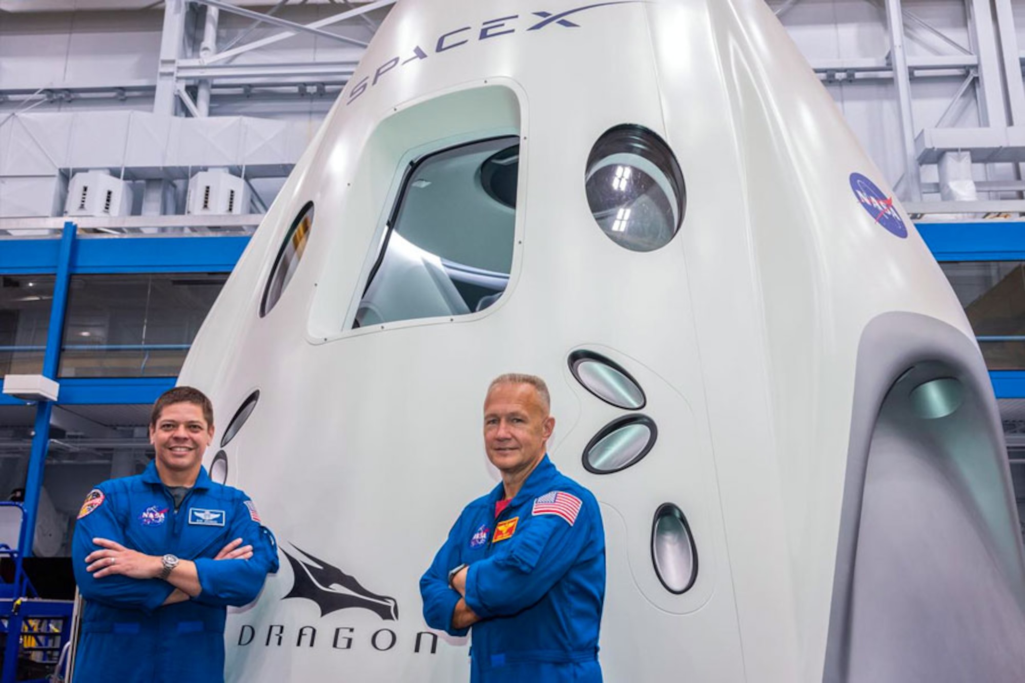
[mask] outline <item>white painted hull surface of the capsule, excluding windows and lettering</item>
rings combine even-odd
[[[515,32],[480,39],[485,22],[514,14]],[[322,617],[283,599],[282,558],[260,600],[230,615],[230,680],[465,678],[464,640],[413,652],[417,579],[462,506],[497,481],[480,408],[505,371],[548,380],[552,458],[603,505],[607,680],[821,680],[861,331],[907,311],[972,332],[907,214],[897,208],[902,239],[855,198],[853,172],[892,191],[761,0],[624,2],[572,18],[530,32],[539,19],[519,1],[401,3],[196,337],[180,381],[210,393],[221,424],[260,391],[224,449],[229,483],[255,497],[283,550],[394,597],[400,614]],[[448,41],[467,42],[438,52],[461,27]],[[425,58],[411,58],[416,46]],[[584,194],[592,145],[622,123],[665,139],[687,184],[680,234],[652,252],[607,239]],[[517,130],[517,244],[498,303],[351,329],[406,165]],[[260,318],[309,201],[305,255]],[[655,449],[615,475],[581,465],[622,412],[572,377],[578,349],[625,367],[659,426]],[[650,557],[665,501],[687,515],[700,558],[681,596]],[[313,647],[296,644],[301,627],[316,629]],[[253,639],[239,646],[246,628]],[[394,649],[372,647],[379,629],[398,634]],[[332,647],[335,634],[351,649]]]

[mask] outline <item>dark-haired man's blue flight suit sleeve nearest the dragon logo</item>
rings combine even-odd
[[[252,519],[248,498],[238,498],[232,516],[229,538],[242,538],[253,547],[248,560],[197,558],[196,573],[203,589],[193,598],[204,605],[223,607],[248,605],[259,595],[268,573],[278,571],[278,544],[265,526]]]

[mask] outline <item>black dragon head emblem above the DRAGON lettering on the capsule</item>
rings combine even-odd
[[[292,565],[294,575],[292,590],[282,600],[305,598],[313,600],[321,609],[321,616],[360,607],[369,609],[386,621],[399,618],[399,603],[395,598],[376,595],[363,588],[355,577],[333,567],[303,550],[292,546],[302,557],[292,557],[284,549],[282,553]]]

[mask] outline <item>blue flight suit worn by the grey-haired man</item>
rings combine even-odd
[[[538,507],[560,491],[582,504],[572,524]],[[423,618],[466,635],[452,628],[459,594],[448,587],[449,570],[465,562],[466,605],[482,619],[471,627],[473,683],[600,683],[605,531],[598,501],[547,455],[496,519],[502,497],[498,484],[459,515],[420,578]]]

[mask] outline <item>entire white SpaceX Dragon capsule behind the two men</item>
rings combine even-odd
[[[284,556],[229,680],[467,680],[417,579],[507,371],[601,503],[606,680],[1025,675],[972,330],[763,0],[396,4],[180,377]]]

